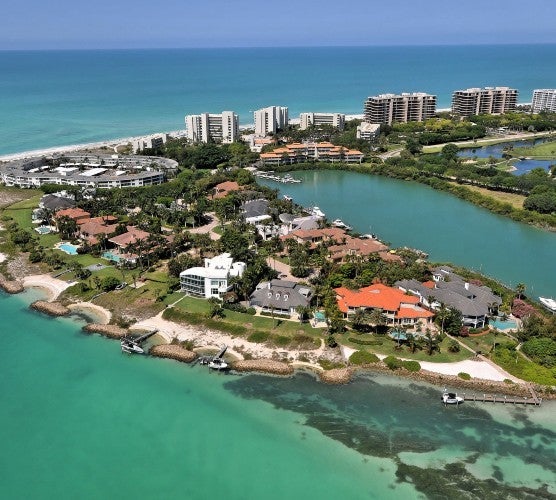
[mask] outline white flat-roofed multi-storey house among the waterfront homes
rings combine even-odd
[[[181,291],[196,297],[217,299],[230,289],[228,280],[241,277],[245,263],[234,262],[229,253],[205,259],[204,267],[192,267],[180,273]]]

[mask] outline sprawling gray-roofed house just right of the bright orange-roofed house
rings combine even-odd
[[[481,328],[488,316],[496,314],[502,299],[484,285],[465,281],[447,266],[433,270],[433,281],[400,280],[396,286],[419,297],[421,304],[438,310],[441,304],[462,314],[464,326]]]

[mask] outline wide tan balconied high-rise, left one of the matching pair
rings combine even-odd
[[[365,101],[368,123],[422,122],[436,113],[436,96],[424,92],[381,94]]]

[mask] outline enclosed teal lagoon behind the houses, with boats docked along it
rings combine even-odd
[[[394,247],[426,251],[505,282],[525,283],[527,295],[556,290],[556,233],[492,214],[415,182],[333,170],[296,172],[301,184],[280,189],[303,206],[318,205],[329,220],[341,218],[360,233],[376,233]]]

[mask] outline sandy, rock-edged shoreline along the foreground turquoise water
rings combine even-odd
[[[44,281],[42,281],[44,280]],[[48,303],[54,302],[59,295],[68,286],[69,283],[52,278],[49,275],[32,275],[24,278],[25,288],[39,288],[49,294]],[[31,307],[31,305],[30,305]],[[110,324],[112,313],[96,304],[90,302],[76,302],[69,304],[67,308],[71,312],[83,312],[87,316],[88,321],[85,328],[92,333],[100,333],[109,338],[119,338],[119,336],[108,335],[105,330],[116,328]],[[90,313],[90,315],[87,314]],[[95,321],[99,320],[99,321]],[[325,370],[317,362],[325,351],[324,341],[321,346],[313,350],[298,349],[282,349],[278,351],[275,348],[265,346],[263,344],[249,342],[241,337],[232,337],[226,333],[215,330],[199,328],[193,325],[179,324],[162,318],[162,312],[151,318],[139,321],[131,325],[127,330],[149,330],[156,328],[164,344],[172,345],[172,342],[193,342],[195,343],[194,351],[206,352],[218,350],[222,344],[228,346],[228,353],[237,361],[245,362],[246,368],[240,369],[244,372],[256,372],[262,374],[273,374],[271,370],[265,367],[273,362],[276,366],[282,366],[280,371],[275,375],[291,376],[298,372],[310,371],[314,373],[323,383],[329,384],[345,384],[351,382],[355,377],[364,375],[365,373],[383,373],[395,377],[412,379],[415,381],[427,382],[437,387],[450,386],[458,389],[467,389],[477,393],[502,393],[508,395],[518,395],[521,397],[529,397],[529,387],[533,384],[517,379],[511,374],[504,372],[501,367],[493,365],[487,360],[465,360],[456,363],[434,363],[419,362],[421,370],[418,372],[409,372],[404,369],[392,371],[387,366],[381,364],[355,366],[349,364],[349,356],[355,352],[355,349],[342,346],[340,348],[341,356],[347,363],[346,366]],[[110,333],[110,332],[109,332]],[[302,360],[299,357],[302,357]],[[378,355],[383,359],[384,355]],[[168,357],[168,356],[163,356]],[[175,358],[174,358],[175,359]],[[192,358],[190,361],[192,361]],[[309,359],[305,361],[305,359]],[[185,361],[185,360],[181,360]],[[190,362],[186,361],[186,362]],[[283,366],[290,368],[284,369]],[[470,380],[464,380],[458,376],[458,373],[465,368],[471,375]],[[534,384],[536,390],[542,395],[542,399],[556,399],[556,394],[552,392],[549,386],[540,386]],[[527,396],[524,396],[527,395]]]

